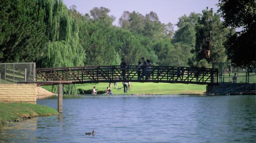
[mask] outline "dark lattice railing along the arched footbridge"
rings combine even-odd
[[[76,66],[40,68],[37,81],[218,83],[218,69],[175,66]]]

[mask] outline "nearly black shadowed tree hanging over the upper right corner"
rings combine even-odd
[[[220,15],[230,31],[225,43],[228,58],[237,66],[256,67],[256,0],[219,0]]]

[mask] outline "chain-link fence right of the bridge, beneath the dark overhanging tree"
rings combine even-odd
[[[212,64],[219,69],[219,82],[256,83],[256,69],[242,69],[230,62]]]

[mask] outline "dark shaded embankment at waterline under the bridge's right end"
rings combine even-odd
[[[256,84],[219,83],[219,86],[208,86],[207,94],[256,95]]]

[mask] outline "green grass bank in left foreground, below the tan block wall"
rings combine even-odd
[[[0,102],[0,125],[6,122],[55,114],[58,114],[58,112],[47,106],[22,102]]]

